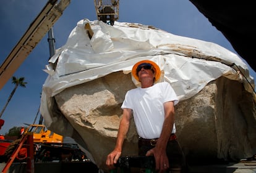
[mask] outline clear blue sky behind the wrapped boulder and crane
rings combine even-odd
[[[0,2],[0,63],[6,59],[46,2],[46,0],[2,0]],[[71,1],[53,27],[56,49],[66,43],[70,32],[83,18],[96,20],[94,1]],[[120,0],[118,22],[155,26],[179,36],[214,42],[236,53],[223,34],[216,30],[189,0]],[[5,124],[0,130],[1,134],[8,132],[14,126],[33,123],[35,119],[40,106],[41,88],[48,76],[43,71],[49,58],[47,39],[48,34],[14,73],[17,78],[25,77],[27,87],[18,87],[2,115],[1,118],[5,120]],[[255,71],[251,68],[249,70],[250,75],[255,78]],[[4,107],[13,88],[14,84],[9,80],[0,90],[0,110]]]

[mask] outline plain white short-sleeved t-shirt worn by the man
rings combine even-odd
[[[121,108],[132,109],[135,126],[140,137],[144,139],[159,138],[164,122],[163,103],[179,101],[168,82],[159,82],[147,88],[135,88],[126,93]],[[175,124],[173,132],[176,132]]]

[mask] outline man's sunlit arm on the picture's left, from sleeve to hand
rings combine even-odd
[[[109,153],[106,159],[106,165],[109,167],[109,169],[114,169],[114,164],[117,163],[117,160],[121,156],[122,144],[124,143],[124,139],[126,138],[126,134],[129,130],[131,118],[132,118],[132,110],[124,108],[122,113],[122,119],[120,121],[119,129],[117,133],[116,147],[111,153]]]

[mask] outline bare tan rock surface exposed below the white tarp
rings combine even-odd
[[[70,133],[106,171],[106,156],[113,150],[126,92],[135,88],[130,74],[108,74],[55,95],[56,116],[74,127]],[[56,117],[57,118],[57,117]],[[56,125],[56,124],[55,124]],[[54,129],[54,124],[51,124]],[[256,153],[256,114],[252,94],[242,83],[221,77],[194,97],[176,105],[177,137],[189,160],[237,161]],[[57,130],[58,131],[58,130]],[[63,134],[67,135],[67,134]],[[137,155],[134,122],[122,155]]]

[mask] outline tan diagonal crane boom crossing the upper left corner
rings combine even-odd
[[[40,14],[30,24],[20,41],[0,66],[0,89],[11,78],[14,72],[32,52],[38,42],[61,17],[62,12],[69,6],[70,0],[49,0]]]

